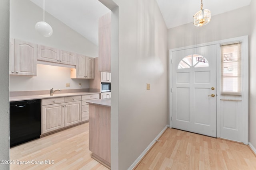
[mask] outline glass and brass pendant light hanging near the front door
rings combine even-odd
[[[203,9],[203,0],[201,0],[201,10],[196,12],[193,16],[194,18],[194,25],[197,27],[202,27],[206,25],[211,20],[211,11]]]

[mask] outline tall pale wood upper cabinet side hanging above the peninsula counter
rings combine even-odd
[[[111,70],[111,12],[99,18],[99,71]]]

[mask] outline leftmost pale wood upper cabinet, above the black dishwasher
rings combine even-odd
[[[37,45],[10,39],[10,75],[36,76]]]

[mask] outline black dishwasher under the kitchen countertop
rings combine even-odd
[[[10,147],[39,138],[41,100],[10,102]]]

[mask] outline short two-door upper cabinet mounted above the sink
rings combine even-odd
[[[76,65],[76,53],[63,51],[44,45],[38,45],[37,59],[52,63]]]

